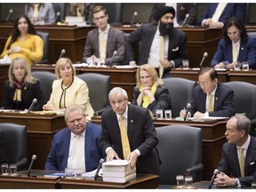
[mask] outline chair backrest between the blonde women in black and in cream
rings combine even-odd
[[[39,80],[41,90],[44,93],[44,101],[47,102],[52,93],[52,82],[57,79],[55,74],[49,71],[33,71],[32,76]]]

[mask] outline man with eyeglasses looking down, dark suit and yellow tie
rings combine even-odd
[[[214,68],[202,68],[197,84],[193,90],[188,116],[199,118],[235,115],[234,92],[227,85],[218,82]],[[185,110],[180,111],[180,116],[185,116]]]

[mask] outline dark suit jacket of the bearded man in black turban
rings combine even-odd
[[[157,23],[142,24],[126,38],[125,52],[127,60],[135,60],[133,44],[140,42],[140,57],[138,65],[148,63],[151,44],[156,34]],[[182,60],[187,58],[187,36],[183,31],[172,28],[169,35],[168,60],[173,60],[175,67],[182,65]],[[171,68],[164,68],[164,73],[169,73]]]

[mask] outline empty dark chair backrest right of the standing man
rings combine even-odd
[[[184,175],[188,168],[202,164],[202,130],[188,125],[157,127],[156,146],[162,164],[159,185],[175,185],[176,175]],[[191,174],[193,180],[202,179],[202,170]]]

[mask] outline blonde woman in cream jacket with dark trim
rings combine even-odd
[[[78,104],[84,109],[87,120],[91,120],[94,110],[90,103],[87,84],[76,77],[76,69],[68,58],[60,58],[55,65],[57,80],[52,83],[50,100],[44,105],[44,110],[58,111]]]

